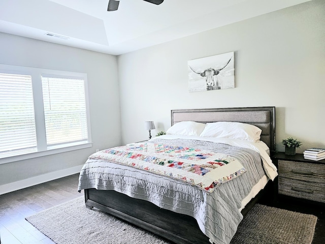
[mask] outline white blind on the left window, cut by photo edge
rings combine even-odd
[[[31,76],[0,73],[0,155],[36,147]]]

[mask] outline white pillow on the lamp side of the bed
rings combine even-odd
[[[194,121],[181,121],[166,131],[167,135],[200,136],[205,124]]]

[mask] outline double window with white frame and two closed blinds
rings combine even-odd
[[[0,163],[90,147],[87,98],[86,74],[0,65]]]

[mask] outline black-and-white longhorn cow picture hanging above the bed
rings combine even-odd
[[[234,52],[193,59],[188,64],[188,90],[235,88]]]

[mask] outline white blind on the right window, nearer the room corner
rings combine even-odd
[[[42,75],[47,145],[88,140],[84,79]]]

